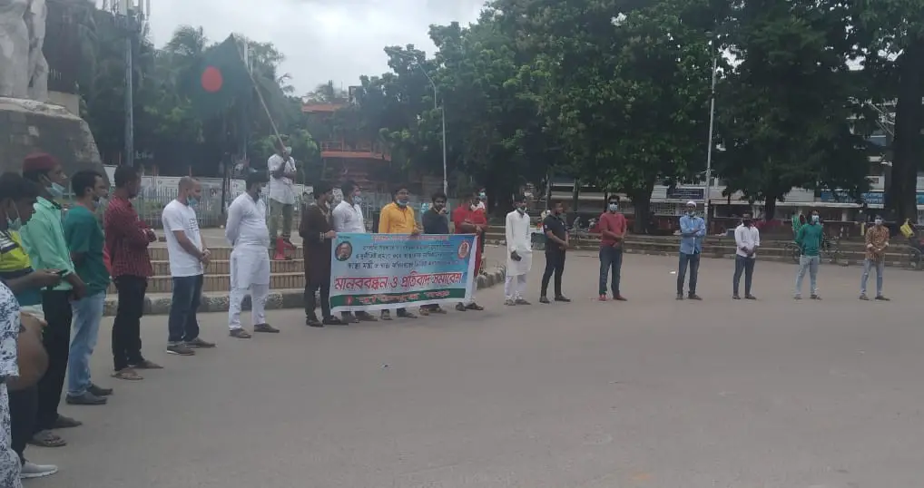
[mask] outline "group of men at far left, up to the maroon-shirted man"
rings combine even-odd
[[[113,389],[95,384],[90,373],[111,281],[119,295],[113,377],[140,380],[137,370],[161,368],[141,355],[140,341],[145,287],[152,274],[147,247],[156,237],[131,206],[140,189],[138,173],[123,166],[115,179],[101,225],[97,211],[110,195],[99,172],[83,170],[69,178],[74,204],[67,211],[57,201],[67,192],[68,177],[51,155],[32,154],[21,176],[0,176],[3,486],[57,471],[27,460],[25,449],[28,444],[67,445],[57,431],[81,425],[58,412],[63,391],[71,405],[104,405],[112,395]]]

